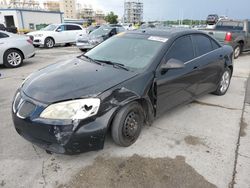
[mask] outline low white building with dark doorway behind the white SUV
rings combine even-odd
[[[31,9],[0,9],[0,23],[19,30],[35,30],[41,24],[62,23],[63,13]]]

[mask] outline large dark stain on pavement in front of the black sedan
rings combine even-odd
[[[185,158],[97,157],[91,166],[76,174],[58,188],[214,188],[203,176],[185,162]]]

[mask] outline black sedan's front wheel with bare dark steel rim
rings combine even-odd
[[[137,102],[124,106],[115,116],[111,135],[114,142],[128,147],[138,139],[144,123],[143,110]]]

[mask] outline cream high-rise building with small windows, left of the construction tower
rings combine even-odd
[[[76,19],[75,0],[60,0],[60,11],[64,13],[65,18]]]

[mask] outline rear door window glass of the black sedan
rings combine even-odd
[[[213,50],[211,41],[205,35],[193,35],[197,56],[202,56]]]

